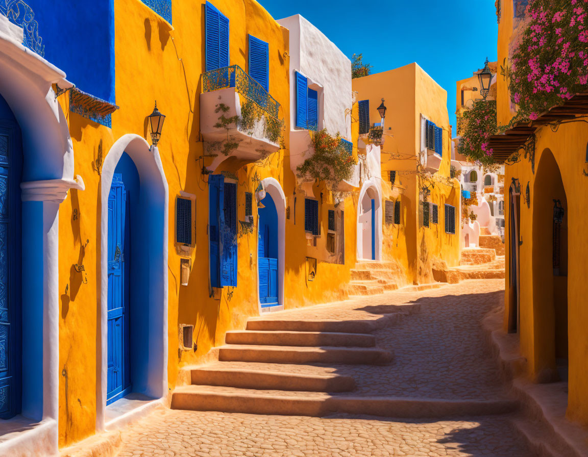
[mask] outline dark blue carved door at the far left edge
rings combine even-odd
[[[0,418],[21,410],[21,130],[0,96]]]

